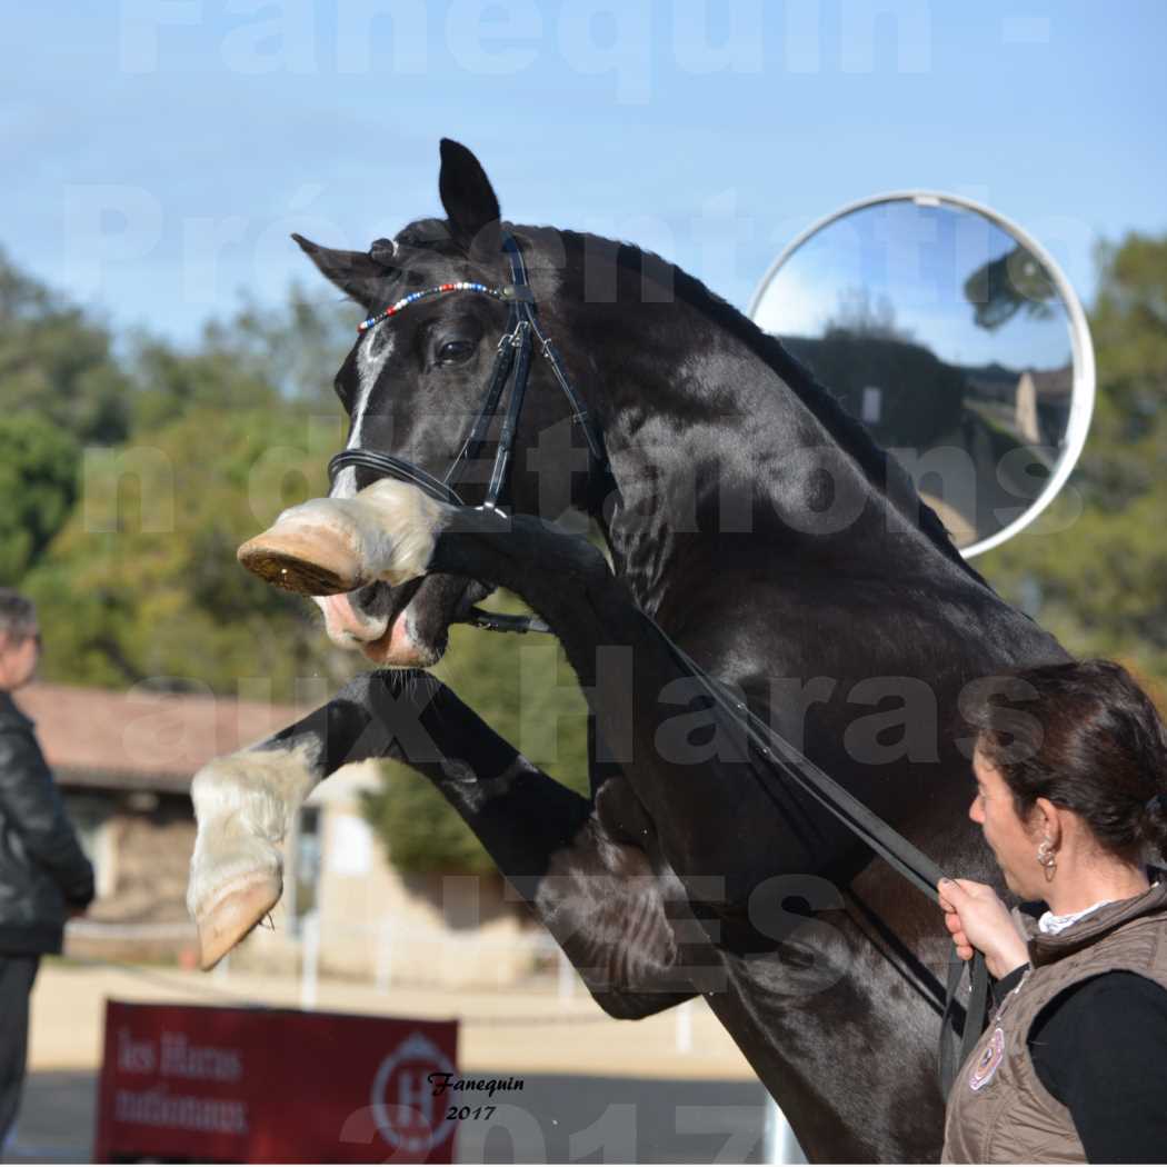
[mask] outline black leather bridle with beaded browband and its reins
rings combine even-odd
[[[551,343],[550,337],[539,328],[534,294],[527,281],[523,253],[515,242],[513,236],[505,231],[503,232],[502,246],[510,261],[510,284],[503,287],[492,287],[487,284],[473,281],[439,284],[432,288],[410,293],[389,308],[376,313],[357,326],[357,331],[363,335],[419,300],[447,295],[454,292],[487,295],[508,305],[506,330],[498,341],[494,366],[490,378],[487,382],[487,391],[483,396],[482,405],[470,426],[470,433],[467,435],[462,448],[454,457],[445,476],[436,478],[412,462],[394,457],[392,454],[354,448],[341,450],[328,463],[328,475],[331,482],[336,481],[337,474],[345,467],[355,467],[370,470],[382,477],[407,482],[440,503],[446,503],[450,506],[466,506],[467,503],[455,488],[464,475],[469,463],[480,455],[491,422],[501,417],[495,463],[490,473],[485,499],[480,504],[478,509],[497,511],[505,517],[505,512],[499,505],[499,499],[503,497],[510,478],[511,454],[515,445],[515,435],[518,429],[519,414],[523,410],[523,399],[526,394],[531,356],[536,341],[539,343],[540,355],[551,366],[559,387],[571,405],[572,420],[584,429],[584,435],[588,445],[589,471],[592,469],[607,468],[608,459],[605,452],[603,435],[592,424],[587,408],[564,372],[559,354]],[[506,397],[505,407],[499,414],[499,405],[508,386],[510,387],[510,393]],[[746,703],[740,700],[728,686],[705,672],[665,635],[656,621],[648,615],[644,615],[644,619],[664,641],[677,663],[698,680],[705,696],[710,698],[714,707],[745,731],[755,752],[769,767],[784,774],[820,806],[829,810],[844,826],[867,844],[872,851],[887,860],[917,890],[927,895],[934,903],[939,902],[936,885],[943,878],[944,873],[936,862],[920,851],[915,844],[909,843],[902,834],[893,830],[878,815],[874,815],[854,795],[819,769],[801,750],[795,749],[781,734],[776,733],[749,710]],[[483,612],[478,608],[471,609],[467,623],[492,631],[551,631],[551,628],[538,619],[503,615]],[[773,789],[766,783],[762,785],[767,796],[777,804]],[[985,967],[984,957],[980,952],[977,952],[973,956],[969,971],[970,995],[958,1047],[956,1033],[951,1027],[955,1021],[953,1008],[956,1006],[963,970],[964,962],[953,953],[949,960],[944,1011],[941,1015],[939,1078],[941,1089],[945,1097],[948,1097],[957,1070],[967,1060],[973,1047],[980,1039],[980,1034],[985,1027],[985,1011],[988,1002],[988,971]],[[951,1041],[946,1040],[950,1033]]]

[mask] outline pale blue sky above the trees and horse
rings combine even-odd
[[[1158,0],[114,0],[9,6],[0,247],[119,333],[331,291],[438,214],[438,142],[513,222],[630,239],[739,307],[808,224],[987,203],[1092,296],[1167,231]]]

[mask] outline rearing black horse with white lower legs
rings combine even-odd
[[[743,746],[665,636],[946,869],[981,879],[960,694],[1064,654],[778,341],[700,282],[627,244],[502,224],[482,167],[449,141],[440,194],[445,219],[369,253],[299,240],[369,313],[482,286],[418,298],[358,338],[336,378],[350,447],[434,477],[457,459],[524,299],[511,238],[581,400],[536,351],[504,510],[434,501],[357,459],[252,548],[275,582],[327,595],[334,640],[407,668],[196,776],[207,963],[279,895],[275,844],[310,784],[398,757],[610,1014],[704,994],[812,1160],[937,1158],[939,913]],[[470,461],[478,481],[459,490],[477,503],[491,463]],[[610,566],[548,522],[568,504],[599,524]],[[414,671],[495,587],[550,624],[579,676],[591,798]]]

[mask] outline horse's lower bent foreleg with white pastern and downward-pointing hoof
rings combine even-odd
[[[189,903],[204,967],[279,897],[278,843],[307,791],[368,757],[401,761],[441,790],[609,1013],[666,1008],[693,995],[697,970],[719,966],[691,938],[680,887],[650,859],[652,840],[619,778],[593,805],[429,675],[386,670],[196,777]]]

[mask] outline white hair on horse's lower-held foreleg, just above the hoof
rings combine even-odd
[[[198,831],[187,907],[200,920],[233,890],[282,879],[292,817],[317,780],[319,746],[245,749],[208,762],[190,784]]]

